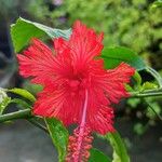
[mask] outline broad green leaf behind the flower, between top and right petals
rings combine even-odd
[[[122,62],[130,64],[137,70],[143,70],[146,67],[141,57],[134,51],[123,46],[105,48],[102,52],[102,57],[107,69],[114,68]]]

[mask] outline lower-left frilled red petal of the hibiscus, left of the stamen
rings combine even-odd
[[[82,107],[82,96],[71,96],[68,89],[46,87],[39,94],[33,106],[33,113],[42,117],[57,118],[65,125],[77,123]]]

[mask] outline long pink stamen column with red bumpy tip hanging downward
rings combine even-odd
[[[86,162],[90,157],[89,150],[92,148],[93,137],[91,136],[91,129],[86,125],[87,99],[87,90],[85,90],[82,120],[80,126],[69,137],[66,162]]]

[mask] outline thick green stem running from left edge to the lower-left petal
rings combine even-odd
[[[0,123],[5,122],[5,121],[10,121],[10,120],[24,119],[24,118],[31,118],[30,109],[25,109],[25,110],[19,110],[16,112],[1,114],[0,116]]]

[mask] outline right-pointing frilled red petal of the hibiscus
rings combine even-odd
[[[116,69],[107,70],[105,78],[98,80],[106,92],[110,103],[119,103],[122,97],[127,97],[125,83],[130,82],[135,69],[125,63],[121,63]]]

